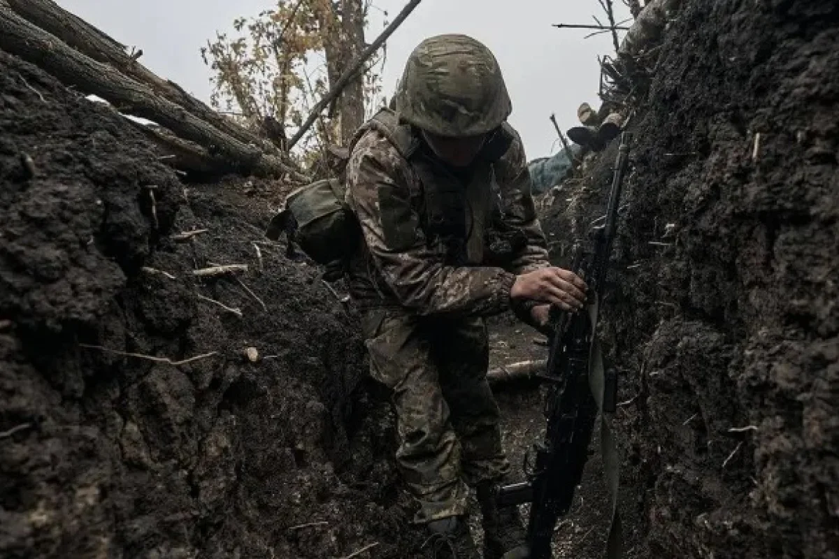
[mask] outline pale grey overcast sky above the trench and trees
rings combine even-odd
[[[58,0],[114,39],[143,49],[150,70],[209,101],[210,70],[200,49],[216,30],[232,31],[232,21],[271,8],[273,0]],[[367,41],[393,19],[405,0],[373,0]],[[618,20],[628,10],[615,2]],[[583,39],[588,31],[558,29],[551,23],[605,22],[597,0],[423,0],[388,40],[384,93],[390,96],[405,60],[422,39],[435,34],[469,34],[492,49],[513,98],[510,123],[524,139],[529,158],[555,153],[555,113],[560,127],[576,126],[576,108],[597,108],[597,54],[612,52],[609,34]]]

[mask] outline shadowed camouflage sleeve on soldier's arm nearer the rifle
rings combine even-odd
[[[536,217],[531,191],[530,172],[519,134],[513,132],[513,142],[495,165],[495,176],[503,199],[502,219],[508,227],[524,233],[526,243],[513,257],[510,271],[516,274],[549,267],[548,243]]]

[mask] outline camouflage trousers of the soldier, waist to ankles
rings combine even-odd
[[[393,391],[396,461],[428,522],[466,513],[467,486],[507,474],[481,318],[362,314],[373,378]]]

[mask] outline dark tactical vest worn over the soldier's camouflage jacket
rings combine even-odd
[[[421,192],[411,192],[411,197],[420,200],[420,227],[429,245],[446,254],[448,265],[480,265],[490,226],[499,220],[501,211],[493,165],[513,142],[512,130],[505,123],[487,138],[464,181],[440,164],[414,129],[400,123],[390,109],[379,111],[358,129],[351,152],[371,128],[388,139],[421,185]]]

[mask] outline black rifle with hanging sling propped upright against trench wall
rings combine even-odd
[[[618,204],[631,140],[632,134],[623,132],[605,222],[592,230],[589,246],[578,243],[574,251],[571,270],[588,284],[586,304],[577,313],[551,308],[547,370],[545,375],[537,375],[548,384],[545,439],[534,444],[533,467],[529,468],[525,461],[528,481],[503,486],[496,494],[498,506],[530,503],[530,559],[550,559],[556,522],[571,509],[574,490],[582,479],[597,413],[613,413],[617,406],[618,376],[614,370],[603,373],[595,330],[612,241],[617,230]],[[612,526],[607,557],[613,559],[620,554],[621,537],[616,506],[618,459],[611,427],[603,415],[602,429],[603,463],[612,494]]]

